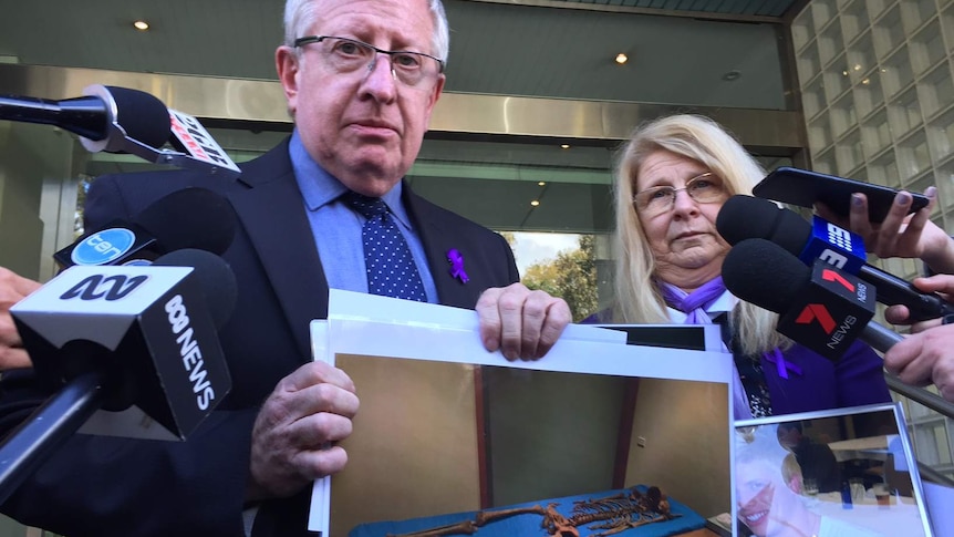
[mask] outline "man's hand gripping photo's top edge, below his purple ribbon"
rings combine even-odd
[[[522,283],[487,289],[476,309],[484,347],[510,361],[542,358],[572,320],[563,299]]]

